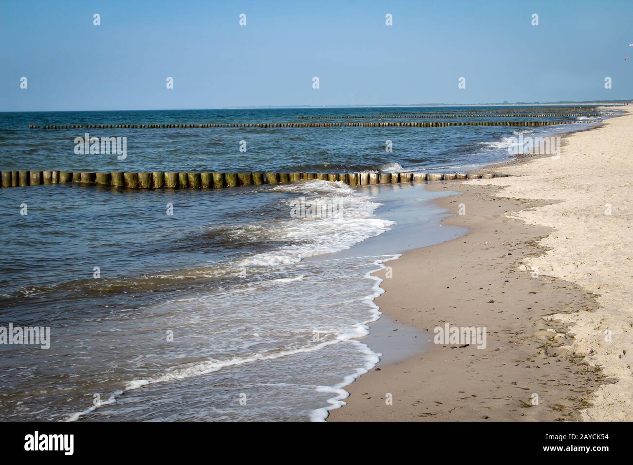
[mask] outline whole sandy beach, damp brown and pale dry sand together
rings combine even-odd
[[[328,421],[633,419],[633,115],[565,136],[510,177],[434,183],[467,227],[391,262],[376,304],[427,332],[485,327],[486,347],[429,344],[346,387]],[[459,214],[459,213],[462,214]]]

